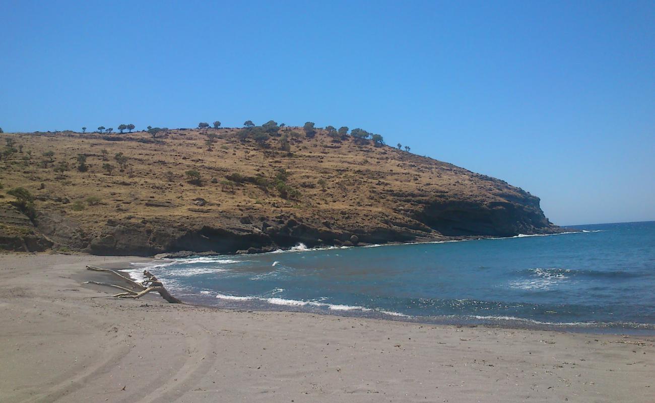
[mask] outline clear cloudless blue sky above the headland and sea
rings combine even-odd
[[[0,0],[0,127],[361,127],[561,225],[655,220],[653,1]]]

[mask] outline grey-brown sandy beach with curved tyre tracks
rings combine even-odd
[[[112,297],[0,255],[1,402],[654,402],[654,337],[434,326]]]

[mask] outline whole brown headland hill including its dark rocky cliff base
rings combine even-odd
[[[266,129],[0,134],[0,245],[149,256],[559,231],[502,180],[327,130]],[[15,187],[35,197],[31,220]]]

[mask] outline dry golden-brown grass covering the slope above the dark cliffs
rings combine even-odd
[[[302,132],[301,128],[289,129]],[[208,147],[206,134],[210,132],[218,137]],[[284,215],[325,220],[346,229],[377,228],[390,221],[412,222],[411,214],[421,200],[443,195],[500,200],[498,194],[515,191],[503,182],[452,164],[388,146],[333,142],[323,132],[311,139],[304,135],[291,138],[291,153],[280,151],[279,138],[271,138],[263,148],[250,140],[238,140],[236,132],[234,128],[179,129],[156,140],[145,132],[113,134],[121,141],[72,132],[2,134],[1,144],[5,138],[13,139],[22,145],[23,153],[0,162],[0,182],[5,187],[0,193],[26,187],[38,197],[37,210],[65,212],[85,231],[94,233],[107,220],[155,217],[185,226],[221,226],[243,216]],[[108,161],[103,161],[103,149]],[[47,151],[54,151],[54,161],[44,165],[48,158],[42,155]],[[123,170],[114,159],[117,153],[127,157]],[[76,168],[79,154],[86,155],[86,172]],[[61,163],[70,166],[63,174],[54,170]],[[115,166],[111,175],[103,169],[105,163]],[[265,191],[244,183],[231,191],[221,185],[225,176],[235,172],[272,180],[279,169],[290,174],[288,185],[301,194],[297,200],[282,199],[274,187]],[[187,181],[188,170],[200,172],[202,185]],[[217,183],[212,183],[212,178]],[[89,205],[90,197],[100,202]],[[196,206],[193,199],[198,197],[208,204]],[[170,206],[146,205],[153,201],[170,202]]]

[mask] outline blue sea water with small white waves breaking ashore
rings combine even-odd
[[[176,296],[427,323],[655,333],[655,221],[459,242],[134,263]]]

